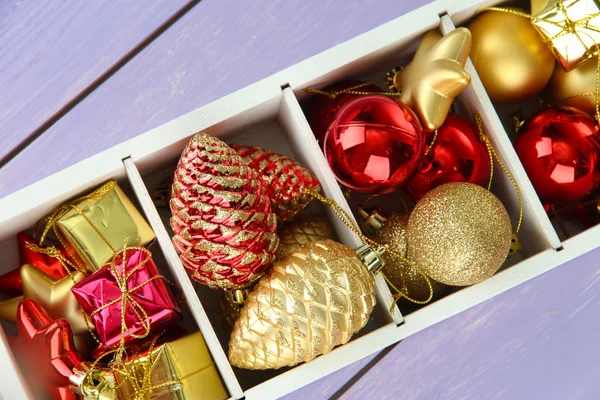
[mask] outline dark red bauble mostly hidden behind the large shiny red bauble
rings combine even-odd
[[[365,82],[356,80],[340,81],[327,87],[326,89],[323,89],[323,91],[327,93],[334,93],[336,91],[358,86],[362,83]],[[379,89],[375,85],[367,85],[357,88],[356,91],[378,93],[381,92],[381,89]],[[317,138],[321,146],[323,145],[323,139],[325,138],[327,127],[335,118],[335,115],[337,114],[340,107],[360,96],[361,95],[350,93],[341,93],[335,96],[334,98],[321,94],[316,94],[313,96],[310,105],[308,106],[307,119],[315,137]]]

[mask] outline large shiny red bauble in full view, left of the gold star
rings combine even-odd
[[[323,151],[336,178],[364,193],[389,193],[405,184],[423,157],[425,135],[415,113],[382,95],[342,107]]]

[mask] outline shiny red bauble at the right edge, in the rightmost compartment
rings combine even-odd
[[[540,199],[557,204],[580,200],[598,187],[598,140],[589,115],[548,108],[527,120],[514,146]]]

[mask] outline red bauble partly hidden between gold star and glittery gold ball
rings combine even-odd
[[[437,130],[435,142],[423,157],[415,176],[406,185],[417,202],[431,189],[450,182],[485,185],[490,177],[490,156],[477,125],[450,114]]]

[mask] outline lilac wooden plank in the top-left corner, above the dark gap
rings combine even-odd
[[[3,1],[0,160],[188,3]]]

